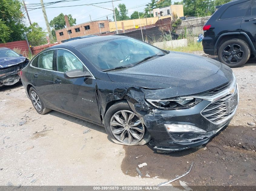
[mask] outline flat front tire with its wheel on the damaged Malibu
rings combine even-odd
[[[126,116],[126,120],[124,116]],[[126,101],[113,104],[105,114],[104,123],[109,137],[117,144],[145,145],[151,139],[145,124],[143,124],[137,114],[131,110]]]

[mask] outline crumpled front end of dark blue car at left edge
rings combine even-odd
[[[28,65],[29,60],[24,57],[23,59],[17,59],[16,63],[13,60],[11,60],[12,64],[9,64],[9,62],[10,60],[5,60],[4,63],[0,63],[0,87],[17,83],[20,80],[21,70]]]

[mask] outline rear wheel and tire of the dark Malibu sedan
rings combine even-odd
[[[52,111],[51,109],[45,107],[45,103],[43,102],[42,98],[39,96],[35,88],[31,87],[29,89],[29,97],[37,113],[44,115],[45,113]],[[41,105],[41,109],[39,107],[39,104]]]

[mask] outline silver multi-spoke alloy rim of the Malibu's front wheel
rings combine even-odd
[[[141,141],[145,134],[141,119],[129,110],[116,112],[110,119],[110,128],[118,141],[128,145]]]

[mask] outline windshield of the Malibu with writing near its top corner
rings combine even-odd
[[[79,51],[101,71],[132,67],[148,57],[166,54],[148,43],[132,38],[106,40],[84,46]]]

